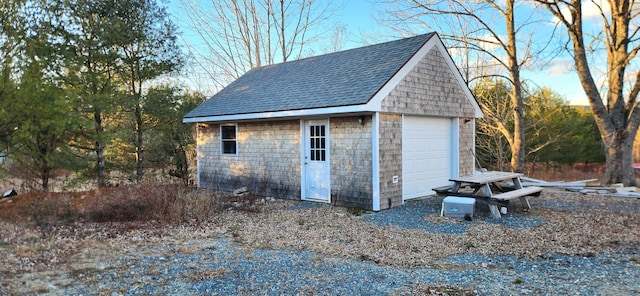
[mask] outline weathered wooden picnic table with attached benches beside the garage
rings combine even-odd
[[[542,187],[538,186],[523,187],[520,181],[522,176],[521,173],[489,171],[451,178],[449,181],[452,181],[453,185],[446,190],[446,195],[467,196],[487,201],[491,214],[496,218],[501,218],[498,210],[499,205],[506,205],[511,200],[520,199],[522,207],[529,210],[531,205],[527,196],[540,194],[542,191]],[[513,186],[503,186],[502,182],[504,181],[512,182]],[[468,188],[471,189],[471,192],[467,190]],[[441,188],[434,188],[439,193],[442,192],[437,189]]]

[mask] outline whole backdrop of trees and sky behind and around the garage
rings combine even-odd
[[[603,183],[635,184],[632,3],[369,3],[375,10],[360,13],[377,25],[355,33],[339,21],[349,5],[340,1],[3,1],[0,177],[44,191],[87,181],[192,184],[195,132],[182,116],[233,79],[435,30],[485,113],[480,166],[526,173],[535,164],[604,163]],[[586,5],[595,15],[583,14]],[[527,76],[558,59],[570,62],[589,106]]]

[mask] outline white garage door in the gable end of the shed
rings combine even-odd
[[[427,196],[449,183],[453,164],[451,119],[405,116],[402,125],[402,198]]]

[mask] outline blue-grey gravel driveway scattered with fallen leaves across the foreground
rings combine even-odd
[[[255,221],[251,220],[253,214],[230,213],[232,217],[208,226],[180,226],[162,231],[133,229],[126,235],[108,239],[68,238],[78,248],[69,260],[62,260],[64,264],[58,264],[56,269],[0,274],[0,294],[640,295],[637,231],[620,236],[631,236],[626,241],[612,240],[612,246],[607,245],[601,252],[585,247],[588,251],[582,254],[551,249],[529,256],[496,249],[500,251],[493,255],[484,251],[480,240],[473,241],[477,246],[468,243],[467,235],[479,226],[516,233],[544,227],[549,222],[545,214],[549,210],[554,215],[598,210],[601,211],[598,217],[624,214],[632,222],[638,221],[640,215],[640,200],[546,196],[532,198],[532,213],[510,209],[510,214],[500,220],[484,211],[478,212],[473,221],[439,217],[438,197],[362,216],[351,216],[344,209],[327,205],[275,201],[277,210]],[[320,212],[318,219],[326,220],[302,218],[317,212]],[[281,217],[293,221],[276,224]],[[304,229],[313,232],[312,235],[324,233],[326,227],[346,231],[348,221],[363,227],[357,233],[365,228],[374,233],[387,231],[362,239],[363,244],[373,245],[378,251],[350,253],[349,247],[361,239],[344,237],[345,232],[314,242],[304,237],[299,238],[299,243],[287,240]],[[320,227],[321,223],[329,226]],[[258,236],[257,232],[270,228],[288,230],[283,234],[266,234],[266,238]],[[636,224],[628,229],[637,228]],[[411,254],[424,254],[414,250],[415,246],[402,249],[394,247],[392,241],[380,242],[385,240],[386,233],[398,232],[407,240],[414,240],[413,235],[443,237],[442,249],[455,247],[458,251],[423,261],[413,258],[411,264],[394,261],[395,255],[425,257]],[[390,250],[381,250],[386,245]],[[330,248],[346,251],[327,250]],[[509,250],[509,246],[505,249]],[[5,258],[18,255],[8,254]]]

